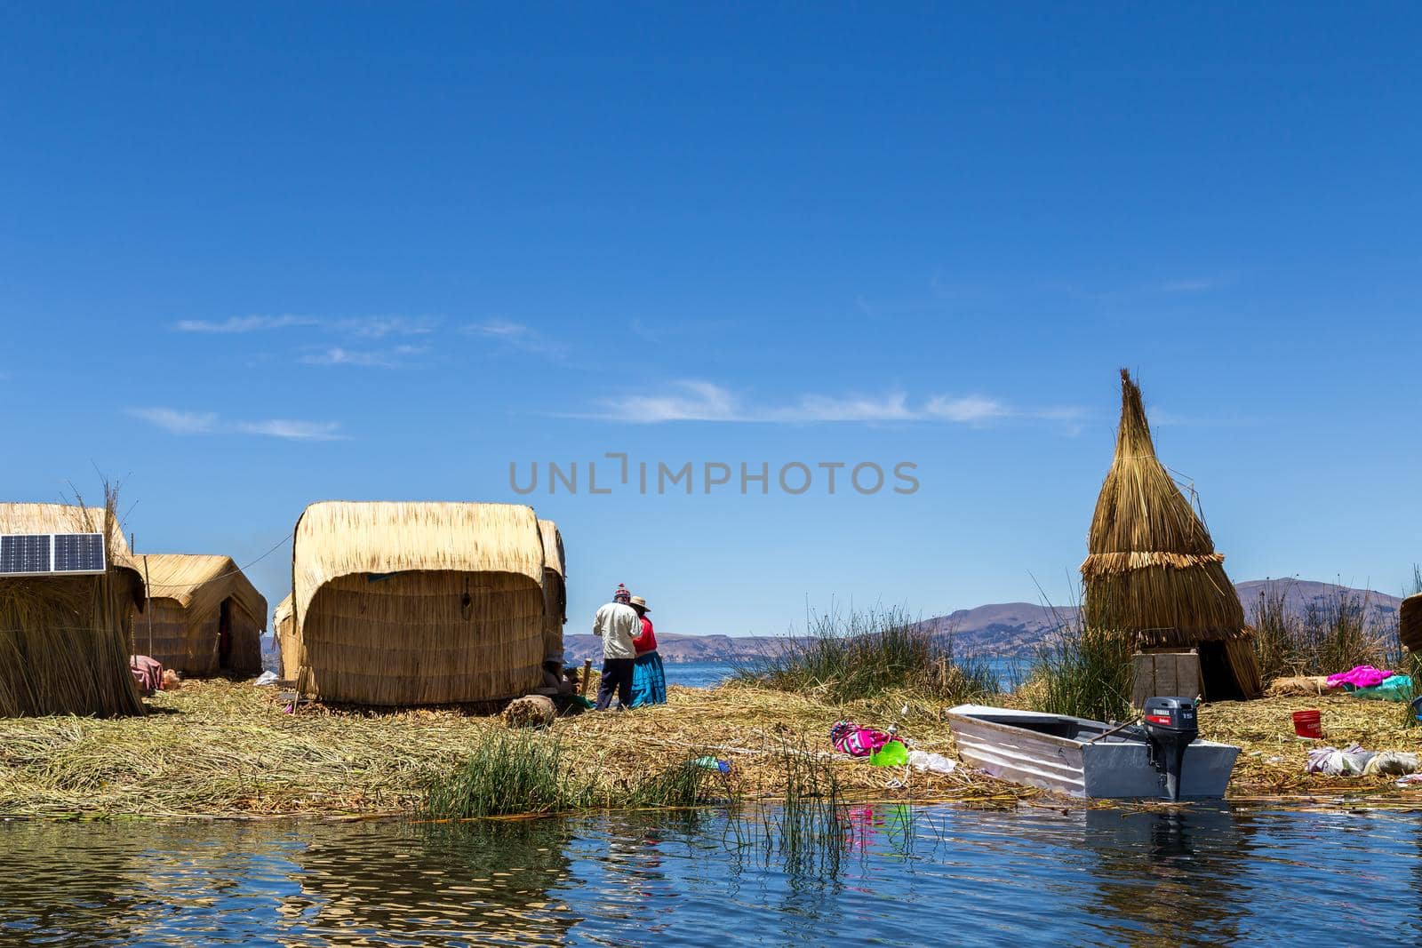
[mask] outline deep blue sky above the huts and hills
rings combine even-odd
[[[98,468],[139,550],[247,563],[577,462],[528,497],[573,631],[1065,601],[1125,365],[1236,580],[1401,593],[1422,14],[1000,6],[11,4],[0,495]]]

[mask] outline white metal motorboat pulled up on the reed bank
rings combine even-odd
[[[958,705],[947,716],[963,762],[994,777],[1086,799],[1169,799],[1165,755],[1139,725],[984,705]],[[1223,797],[1239,753],[1190,740],[1179,797]]]

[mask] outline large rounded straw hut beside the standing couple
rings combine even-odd
[[[297,686],[365,705],[483,704],[540,682],[532,507],[313,503],[292,550]]]

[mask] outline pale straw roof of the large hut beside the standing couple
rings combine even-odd
[[[321,586],[357,573],[513,573],[543,581],[533,509],[510,503],[323,500],[296,523],[297,623]]]

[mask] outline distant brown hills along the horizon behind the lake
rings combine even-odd
[[[1391,624],[1396,621],[1396,596],[1361,590],[1334,583],[1310,580],[1249,580],[1236,583],[1236,591],[1244,604],[1246,621],[1258,607],[1260,596],[1271,588],[1283,588],[1284,603],[1295,615],[1303,617],[1308,607],[1322,607],[1331,596],[1347,593],[1368,604],[1368,621]],[[1052,631],[1076,621],[1076,607],[1047,607],[1032,603],[997,603],[964,608],[948,615],[923,620],[923,627],[936,635],[953,635],[954,645],[978,655],[1031,655],[1037,645]],[[665,662],[720,661],[735,662],[754,659],[774,652],[786,642],[785,635],[675,635],[657,632],[657,652]],[[565,635],[567,661],[579,662],[592,658],[602,659],[602,642],[593,635]]]

